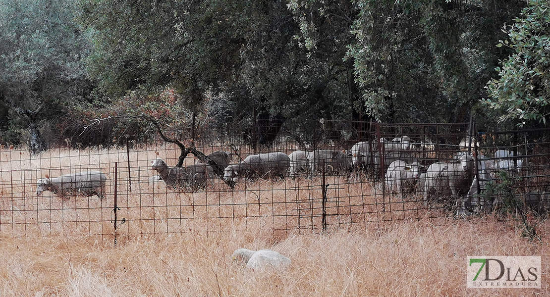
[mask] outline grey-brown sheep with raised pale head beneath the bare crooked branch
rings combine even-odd
[[[151,167],[158,172],[166,185],[172,189],[190,188],[196,190],[206,186],[207,180],[213,176],[213,169],[207,164],[195,164],[184,167],[169,168],[162,159],[151,161]]]

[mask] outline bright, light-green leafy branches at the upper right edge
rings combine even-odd
[[[500,121],[514,120],[519,126],[527,122],[542,122],[550,114],[550,4],[546,0],[530,0],[522,10],[522,17],[503,31],[508,39],[500,40],[497,47],[514,50],[496,68],[498,79],[488,85],[488,107],[502,111]]]

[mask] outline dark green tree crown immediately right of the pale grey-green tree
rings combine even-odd
[[[171,87],[193,108],[238,69],[244,2],[87,1],[94,32],[91,74],[114,96]]]

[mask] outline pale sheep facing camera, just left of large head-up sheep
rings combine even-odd
[[[388,190],[390,193],[394,193],[394,191],[399,193],[401,199],[403,199],[405,192],[411,192],[415,189],[416,183],[425,169],[425,166],[417,162],[407,164],[402,160],[393,161],[386,173]]]

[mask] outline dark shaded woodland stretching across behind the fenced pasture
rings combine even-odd
[[[546,1],[0,3],[0,141],[110,146],[321,120],[546,125]],[[314,125],[315,123],[315,125]],[[252,128],[254,127],[254,128]],[[244,129],[246,130],[246,129]],[[311,132],[311,131],[310,131]],[[183,135],[182,135],[183,136]],[[141,140],[140,140],[141,139]]]

